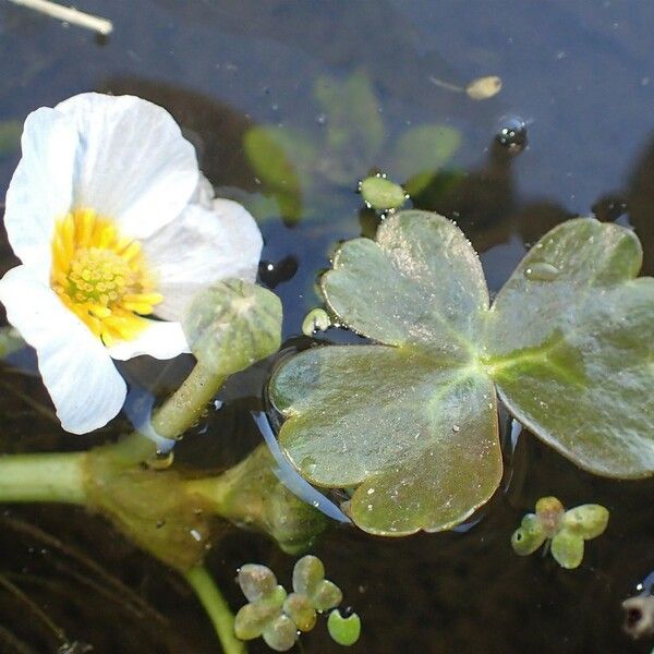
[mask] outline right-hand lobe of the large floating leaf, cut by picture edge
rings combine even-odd
[[[488,372],[509,411],[581,468],[654,473],[654,279],[622,227],[579,218],[545,234],[489,315]]]

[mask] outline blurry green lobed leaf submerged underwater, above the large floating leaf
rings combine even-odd
[[[320,217],[322,206],[334,204],[334,185],[352,189],[353,180],[373,166],[403,181],[405,191],[391,192],[392,205],[400,206],[405,193],[420,193],[429,184],[461,143],[460,133],[444,124],[415,125],[386,143],[378,99],[363,70],[344,80],[317,78],[314,97],[322,137],[276,125],[255,125],[244,135],[247,159],[277,204],[271,208],[251,197],[238,198],[258,217],[271,210],[291,222]],[[328,195],[325,184],[330,186]]]

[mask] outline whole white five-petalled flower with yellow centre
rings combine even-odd
[[[112,358],[187,352],[186,304],[218,279],[254,280],[262,235],[243,207],[214,199],[172,117],[140,98],[38,109],[22,148],[4,225],[23,265],[0,280],[0,301],[62,426],[82,434],[123,404]]]

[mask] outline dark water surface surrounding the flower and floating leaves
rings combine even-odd
[[[493,291],[529,243],[591,211],[632,226],[645,247],[645,272],[654,272],[650,3],[78,5],[114,21],[109,39],[0,4],[0,120],[22,121],[36,107],[84,90],[137,94],[174,114],[216,186],[250,201],[261,199],[264,185],[243,149],[247,130],[282,125],[323,143],[330,117],[315,102],[316,81],[343,81],[355,71],[367,77],[384,145],[374,157],[355,152],[344,164],[320,153],[325,160],[307,173],[311,185],[302,189],[294,225],[257,215],[269,264],[262,281],[283,301],[289,338],[316,303],[313,282],[334,243],[374,226],[353,192],[358,179],[374,167],[392,169],[393,143],[422,123],[458,130],[461,146],[447,166],[457,172],[437,178],[415,204],[458,220],[482,253]],[[505,86],[480,102],[429,80],[465,85],[486,74],[500,75]],[[526,124],[529,145],[518,155],[494,140],[507,117]],[[0,153],[2,192],[17,157],[11,144]],[[351,180],[330,179],[339,166]],[[2,234],[0,272],[14,264]],[[171,386],[186,365],[169,371]],[[143,378],[156,367],[143,361],[130,372]],[[118,420],[93,438],[73,438],[52,421],[38,379],[5,366],[0,386],[3,451],[74,449],[125,426]],[[178,461],[202,458],[216,468],[237,461],[257,443],[246,409],[257,405],[261,391],[261,374],[235,379],[227,391],[231,403],[207,420],[204,434],[186,439]],[[389,541],[341,528],[320,542],[316,552],[328,576],[363,618],[352,651],[650,652],[652,642],[634,644],[622,634],[619,603],[654,569],[654,484],[590,476],[526,433],[507,453],[507,469],[504,489],[467,533]],[[588,544],[577,571],[558,568],[549,557],[518,558],[509,546],[521,516],[549,494],[568,506],[601,502],[611,512],[608,531]],[[102,653],[217,651],[185,584],[99,518],[60,507],[8,507],[0,514],[0,574],[8,582],[0,586],[0,652],[55,652],[65,639]],[[269,565],[284,581],[293,564],[262,536],[225,535],[208,562],[234,609],[242,604],[234,571],[249,561]],[[323,628],[303,637],[302,646],[339,651]],[[265,647],[256,643],[252,651]]]

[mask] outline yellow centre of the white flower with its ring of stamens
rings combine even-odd
[[[162,296],[155,292],[141,243],[93,209],[55,226],[50,286],[106,346],[134,338]]]

